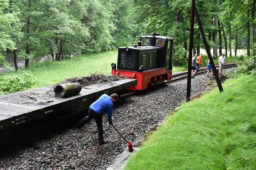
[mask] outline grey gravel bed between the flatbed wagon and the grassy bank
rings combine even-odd
[[[209,90],[205,75],[191,80],[191,97]],[[146,132],[163,122],[164,117],[186,99],[187,80],[166,84],[145,94],[126,98],[113,111],[113,124],[139,145]],[[36,140],[39,149],[20,149],[0,158],[0,169],[106,169],[127,144],[103,117],[107,144],[99,146],[97,126],[92,120],[80,130],[68,129],[52,137]]]

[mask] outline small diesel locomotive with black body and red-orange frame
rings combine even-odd
[[[145,90],[171,81],[172,59],[173,38],[154,33],[140,37],[138,45],[119,47],[117,65],[111,64],[111,74],[137,79],[137,85],[129,90]]]

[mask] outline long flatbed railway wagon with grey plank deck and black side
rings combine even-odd
[[[135,86],[137,80],[123,79],[104,84],[91,84],[82,88],[76,96],[56,98],[54,86],[14,92],[0,96],[0,143],[8,143],[17,135],[29,131],[38,120],[59,120],[79,114],[89,108],[103,94],[113,94]],[[31,94],[50,103],[35,101],[26,96]],[[47,121],[44,121],[47,125]]]

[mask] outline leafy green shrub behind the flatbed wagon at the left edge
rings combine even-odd
[[[0,82],[0,94],[7,94],[11,92],[27,90],[35,83],[31,74],[22,71],[21,74],[11,74]]]

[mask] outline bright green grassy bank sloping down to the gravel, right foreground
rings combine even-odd
[[[182,104],[125,169],[255,169],[256,78],[223,84]]]

